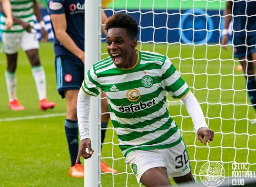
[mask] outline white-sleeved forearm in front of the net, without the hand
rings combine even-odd
[[[203,111],[199,105],[196,97],[189,92],[185,97],[181,98],[186,106],[187,112],[192,118],[194,128],[196,131],[201,127],[208,127],[204,118]]]

